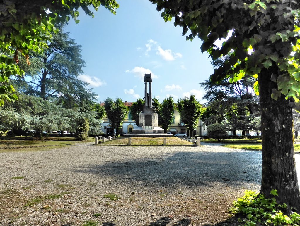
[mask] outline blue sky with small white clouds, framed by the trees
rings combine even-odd
[[[194,94],[200,102],[204,91],[199,83],[213,73],[202,41],[182,37],[182,29],[165,23],[146,0],[119,0],[113,15],[101,7],[91,18],[80,11],[79,24],[64,29],[82,45],[87,62],[79,79],[90,83],[98,101],[107,97],[133,102],[144,97],[144,73],[152,73],[152,97],[162,102]]]

